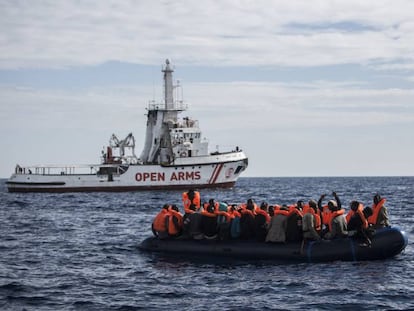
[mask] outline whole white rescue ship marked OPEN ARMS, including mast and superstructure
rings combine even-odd
[[[164,101],[147,108],[145,142],[139,157],[135,138],[113,134],[102,151],[100,164],[16,165],[7,181],[9,192],[139,191],[189,188],[229,188],[248,166],[239,148],[209,151],[198,120],[179,118],[187,110],[173,83],[173,68],[166,60]]]

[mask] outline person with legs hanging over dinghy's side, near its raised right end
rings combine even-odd
[[[367,226],[367,219],[372,215],[372,209],[369,206],[362,209],[361,203],[358,201],[352,201],[351,210],[354,211],[354,214],[348,221],[349,235],[353,233],[352,237],[362,243],[361,245],[371,245],[372,232]]]

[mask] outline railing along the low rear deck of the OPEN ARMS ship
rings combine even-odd
[[[16,166],[16,175],[95,175],[102,165],[36,165]]]

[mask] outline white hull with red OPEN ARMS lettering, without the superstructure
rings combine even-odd
[[[243,152],[194,157],[180,165],[97,165],[98,173],[76,173],[81,167],[37,167],[15,173],[7,181],[9,192],[89,192],[173,190],[232,187],[247,167]],[[111,168],[114,173],[108,173]],[[117,168],[122,168],[122,174]],[[101,169],[101,170],[99,170]],[[105,173],[99,173],[99,172]]]

